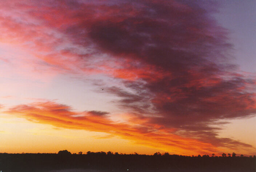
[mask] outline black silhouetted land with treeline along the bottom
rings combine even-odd
[[[233,156],[234,155],[234,156]],[[182,156],[168,153],[154,155],[118,154],[117,152],[78,152],[67,150],[58,154],[0,153],[0,171],[50,171],[61,169],[96,169],[100,171],[253,171],[254,156],[198,155]]]

